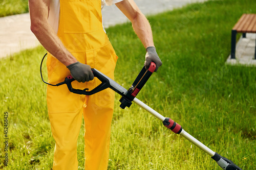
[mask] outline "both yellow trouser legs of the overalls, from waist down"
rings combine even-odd
[[[94,51],[72,53],[80,62],[91,65],[114,79],[117,56],[109,43]],[[97,57],[95,57],[97,56]],[[59,83],[70,74],[65,65],[50,57],[48,81]],[[101,82],[95,78],[88,83],[72,83],[73,88],[95,88]],[[55,139],[54,170],[75,170],[77,161],[77,138],[82,114],[85,122],[86,169],[105,170],[108,167],[110,129],[115,92],[108,88],[91,96],[71,93],[67,86],[48,86],[47,104],[53,137]],[[84,107],[84,108],[83,108]]]

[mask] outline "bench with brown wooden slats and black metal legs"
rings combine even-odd
[[[236,58],[237,33],[243,33],[243,38],[246,37],[246,33],[256,33],[256,14],[243,14],[234,25],[231,32],[231,59]],[[256,59],[256,47],[254,59]]]

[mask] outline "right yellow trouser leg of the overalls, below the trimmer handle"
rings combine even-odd
[[[89,98],[87,107],[84,108],[86,170],[103,170],[108,168],[113,106],[114,102],[98,107],[95,101]]]

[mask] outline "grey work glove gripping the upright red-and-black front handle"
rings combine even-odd
[[[162,61],[158,57],[157,52],[156,52],[156,48],[154,46],[148,46],[146,48],[145,58],[146,58],[146,60],[145,60],[144,65],[145,65],[146,69],[149,67],[149,65],[152,61],[156,64],[155,72],[162,65]]]

